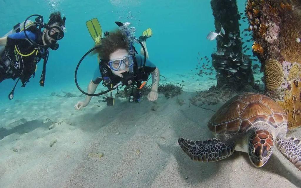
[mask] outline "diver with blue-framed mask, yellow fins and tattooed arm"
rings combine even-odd
[[[142,81],[147,81],[149,75],[152,77],[151,91],[147,95],[148,101],[155,101],[158,98],[158,85],[159,85],[159,69],[146,57],[148,58],[148,53],[146,51],[145,40],[152,36],[151,29],[147,29],[143,32],[143,35],[139,37],[139,40],[135,38],[136,42],[139,41],[141,45],[141,52],[144,55],[141,56],[137,53],[133,46],[131,39],[134,37],[129,35],[127,27],[125,24],[115,22],[120,29],[112,32],[105,32],[105,38],[101,38],[102,31],[98,20],[92,19],[92,23],[87,23],[89,32],[94,39],[96,45],[94,53],[98,54],[100,63],[95,70],[94,77],[88,85],[87,93],[82,91],[76,81],[79,90],[86,94],[84,101],[79,101],[74,107],[77,110],[82,109],[87,106],[92,98],[92,96],[99,96],[111,91],[110,97],[103,98],[103,102],[107,102],[108,106],[112,106],[114,99],[112,97],[112,90],[118,89],[119,85],[131,85],[132,94],[130,94],[129,102],[139,102],[141,95],[141,88],[145,84],[141,84]],[[92,25],[91,27],[89,26]],[[143,50],[142,50],[143,49]],[[87,52],[85,55],[87,55]],[[85,57],[85,56],[84,56]],[[83,57],[83,58],[84,58]],[[83,59],[82,58],[82,59]],[[82,60],[81,60],[82,61]],[[81,62],[80,61],[80,62]],[[79,62],[79,63],[80,63]],[[79,66],[79,65],[78,65]],[[77,69],[78,69],[77,66]],[[76,69],[76,72],[77,72]],[[97,86],[101,83],[108,88],[107,91],[100,94],[94,94]],[[134,84],[137,85],[137,90],[134,92]]]

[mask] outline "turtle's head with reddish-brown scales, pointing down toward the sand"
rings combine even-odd
[[[250,135],[248,154],[255,167],[262,167],[270,158],[273,151],[273,136],[266,130],[257,130]]]

